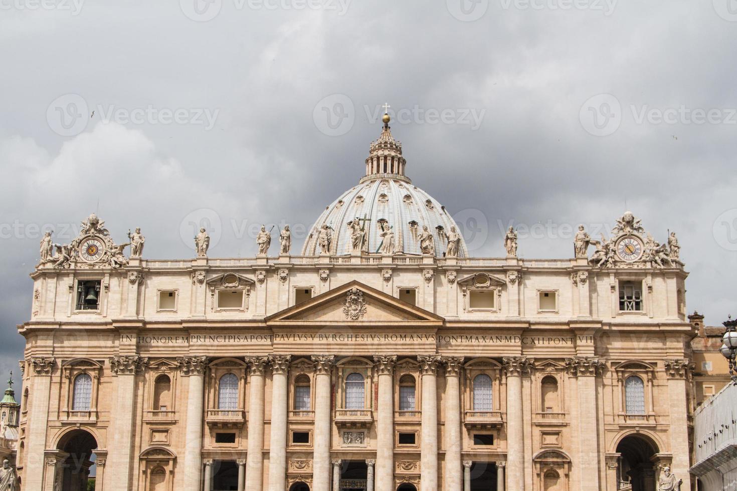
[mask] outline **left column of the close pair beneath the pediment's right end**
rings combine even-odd
[[[438,489],[438,381],[439,355],[417,356],[422,372],[422,449],[420,491]]]

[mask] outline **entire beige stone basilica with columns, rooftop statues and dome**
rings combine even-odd
[[[95,215],[44,237],[20,489],[86,490],[94,462],[102,491],[690,490],[676,236],[626,212],[570,258],[517,257],[513,229],[472,258],[406,167],[385,115],[299,255],[264,228],[213,258],[203,228],[152,259]]]

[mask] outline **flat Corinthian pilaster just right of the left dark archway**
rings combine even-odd
[[[130,476],[133,466],[133,424],[136,417],[136,372],[143,370],[148,358],[140,356],[113,356],[110,367],[116,375],[115,411],[112,411],[111,427],[115,435],[114,445],[108,448],[108,489],[133,489]],[[199,462],[198,462],[199,465]],[[125,487],[121,484],[125,483]]]

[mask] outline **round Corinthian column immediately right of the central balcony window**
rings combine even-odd
[[[394,491],[394,363],[397,356],[374,356],[374,361],[379,378],[376,491]]]

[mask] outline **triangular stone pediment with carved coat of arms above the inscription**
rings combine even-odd
[[[396,297],[352,281],[286,308],[266,318],[271,325],[292,323],[401,324],[404,322],[441,325],[443,318],[402,302]]]

